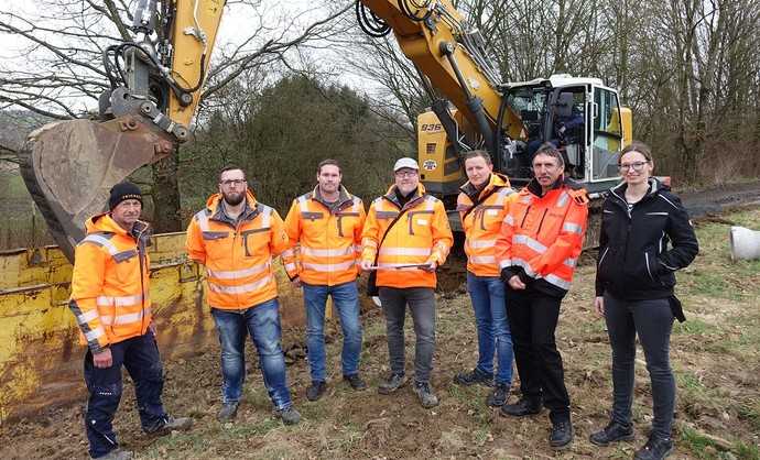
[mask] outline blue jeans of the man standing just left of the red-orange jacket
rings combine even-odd
[[[467,292],[473,300],[478,327],[477,369],[493,373],[493,353],[497,355],[496,383],[512,383],[512,333],[507,318],[504,284],[498,276],[477,276],[467,272]]]

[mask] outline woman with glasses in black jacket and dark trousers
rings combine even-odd
[[[671,426],[675,380],[670,368],[673,318],[683,320],[673,295],[676,270],[696,256],[694,229],[678,197],[652,177],[649,146],[633,142],[620,155],[623,182],[602,205],[596,274],[596,311],[605,317],[612,347],[612,417],[590,436],[598,446],[633,439],[631,404],[636,336],[652,382],[653,419],[649,440],[636,459],[664,459],[673,450]]]

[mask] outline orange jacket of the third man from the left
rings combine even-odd
[[[282,262],[287,276],[326,286],[355,281],[365,205],[340,186],[338,202],[330,210],[317,188],[294,199],[285,217],[290,248],[282,253]]]

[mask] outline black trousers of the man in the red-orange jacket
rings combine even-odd
[[[540,399],[552,423],[569,420],[569,396],[565,387],[562,357],[554,340],[562,298],[530,287],[507,286],[507,314],[514,343],[514,361],[523,397]]]

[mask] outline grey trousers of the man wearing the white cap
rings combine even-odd
[[[380,287],[380,302],[386,313],[388,354],[391,372],[403,374],[404,319],[406,305],[412,313],[416,343],[414,346],[414,380],[430,382],[435,352],[435,295],[432,287]]]

